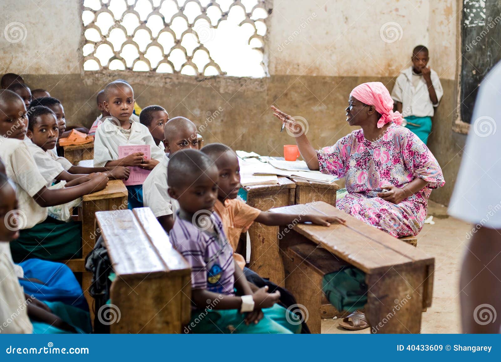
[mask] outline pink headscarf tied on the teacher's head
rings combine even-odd
[[[402,124],[402,115],[398,111],[393,112],[393,99],[391,99],[390,92],[383,83],[368,82],[360,84],[353,88],[350,95],[360,102],[373,105],[376,108],[376,111],[381,114],[381,118],[377,121],[378,128],[389,122],[398,125]]]

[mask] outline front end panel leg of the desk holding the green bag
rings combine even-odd
[[[426,277],[423,266],[404,266],[367,275],[369,292],[365,309],[371,333],[420,332]]]

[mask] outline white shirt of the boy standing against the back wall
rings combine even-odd
[[[439,103],[443,96],[443,89],[438,74],[433,69],[431,69],[430,78]],[[412,83],[412,67],[400,73],[391,91],[391,98],[395,102],[402,103],[402,115],[404,117],[433,117],[434,107],[438,106],[438,103],[433,104],[431,102],[426,81],[422,76],[417,82],[417,86],[414,87]]]

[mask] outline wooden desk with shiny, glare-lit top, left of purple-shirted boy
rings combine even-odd
[[[181,333],[190,320],[191,270],[149,208],[97,212],[116,278],[112,333]]]

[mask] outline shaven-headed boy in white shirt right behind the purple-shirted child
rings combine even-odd
[[[141,112],[141,117],[148,107]],[[189,119],[174,117],[164,127],[163,144],[165,154],[153,168],[143,184],[144,206],[151,209],[163,229],[169,233],[174,225],[177,201],[167,193],[167,165],[169,157],[181,149],[197,149],[196,126]]]

